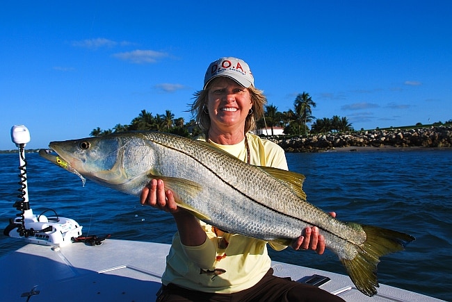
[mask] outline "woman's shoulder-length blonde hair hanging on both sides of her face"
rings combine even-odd
[[[191,104],[191,114],[205,132],[209,132],[211,124],[209,112],[207,112],[207,94],[209,93],[210,85],[211,83],[204,90],[195,92],[193,94],[195,101]],[[267,98],[262,90],[258,90],[253,86],[246,89],[250,92],[252,113],[245,119],[245,133],[256,129],[256,121],[264,115],[264,105],[267,103]]]

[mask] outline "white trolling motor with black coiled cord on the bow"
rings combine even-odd
[[[72,243],[72,237],[81,235],[82,226],[70,218],[46,217],[34,215],[30,208],[29,191],[26,182],[25,145],[30,142],[29,129],[24,125],[15,125],[11,128],[11,140],[19,148],[19,201],[13,205],[20,211],[15,219],[3,230],[3,234],[10,237],[22,238],[26,242],[49,246],[65,246]],[[47,211],[45,211],[47,212]],[[55,213],[56,214],[56,213]]]

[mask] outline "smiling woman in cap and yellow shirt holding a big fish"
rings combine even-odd
[[[212,62],[203,90],[195,97],[192,112],[204,130],[197,140],[250,165],[288,169],[280,146],[248,132],[263,115],[266,98],[254,87],[250,68],[243,60],[229,57]],[[161,180],[152,180],[143,189],[140,202],[170,212],[178,230],[157,301],[342,301],[317,287],[273,276],[267,242],[204,224],[177,207]],[[268,244],[277,251],[286,248]],[[322,254],[325,239],[318,228],[306,228],[292,247]]]

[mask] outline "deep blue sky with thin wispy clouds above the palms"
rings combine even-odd
[[[242,58],[268,104],[297,94],[355,129],[452,119],[452,1],[1,1],[0,149],[191,119],[209,63]]]

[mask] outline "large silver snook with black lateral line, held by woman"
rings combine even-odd
[[[306,201],[305,176],[255,167],[210,144],[167,133],[125,132],[51,142],[51,149],[86,178],[139,196],[152,178],[163,179],[179,206],[231,233],[289,245],[317,226],[358,290],[376,294],[379,258],[403,250],[414,237],[342,222]]]

